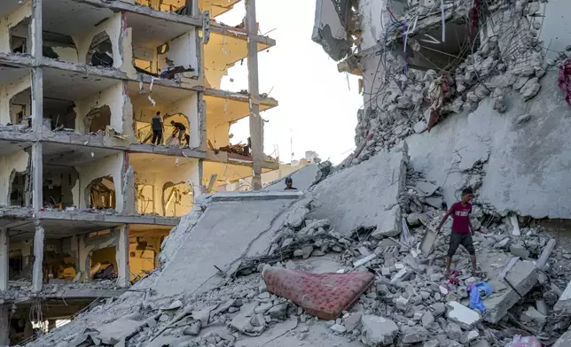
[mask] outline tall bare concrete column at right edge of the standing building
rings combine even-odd
[[[258,42],[255,19],[255,0],[246,0],[246,27],[248,32],[248,90],[250,92],[250,140],[252,141],[253,175],[255,190],[262,189],[263,137],[260,117],[260,90],[258,86]]]

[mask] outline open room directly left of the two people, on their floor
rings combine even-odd
[[[74,88],[70,88],[74,86]],[[43,69],[43,139],[93,146],[125,146],[132,135],[123,82]]]

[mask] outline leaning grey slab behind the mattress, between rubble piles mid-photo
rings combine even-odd
[[[311,191],[323,202],[310,218],[331,221],[341,235],[359,227],[376,227],[375,237],[401,232],[399,194],[405,189],[408,156],[402,150],[381,151],[363,163],[321,181]]]

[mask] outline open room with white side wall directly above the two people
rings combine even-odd
[[[127,40],[132,58],[126,58],[125,72],[143,79],[186,89],[202,85],[199,78],[199,37],[194,26],[126,13]],[[127,48],[126,48],[127,49]],[[126,56],[129,57],[129,56]],[[128,65],[132,61],[132,66]],[[139,77],[135,77],[139,74]],[[173,84],[174,82],[174,84]]]

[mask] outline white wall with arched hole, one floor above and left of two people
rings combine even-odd
[[[95,26],[90,31],[89,35],[82,37],[73,36],[75,45],[77,46],[77,55],[79,57],[79,61],[84,64],[89,64],[86,59],[90,50],[91,42],[95,36],[105,32],[109,36],[113,47],[113,68],[121,68],[123,65],[123,45],[120,45],[122,22],[122,14],[121,12],[118,12],[115,13],[112,18],[106,19],[104,22],[99,23],[97,26]]]

